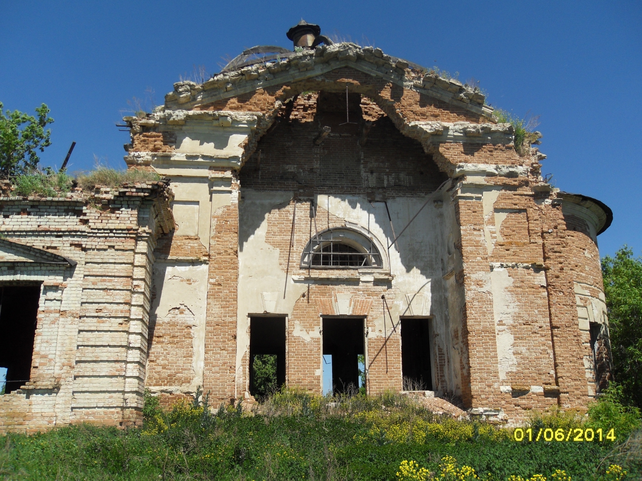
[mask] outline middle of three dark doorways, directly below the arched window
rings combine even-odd
[[[332,356],[333,394],[359,390],[363,353],[363,319],[323,320],[323,354]]]

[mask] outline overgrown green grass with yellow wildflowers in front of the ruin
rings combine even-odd
[[[510,430],[435,416],[394,394],[332,399],[283,391],[253,415],[234,407],[213,414],[206,401],[162,410],[148,396],[144,416],[142,429],[82,425],[7,435],[0,438],[0,477],[409,480],[396,473],[412,460],[437,474],[450,469],[444,480],[467,465],[482,479],[539,473],[551,480],[561,469],[581,481],[604,479],[609,462],[624,459],[612,454],[602,462],[614,452],[610,442],[516,443]],[[460,468],[446,468],[446,462],[440,468],[446,455]],[[636,476],[630,472],[628,479]]]

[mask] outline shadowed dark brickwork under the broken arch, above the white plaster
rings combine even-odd
[[[361,147],[357,142],[362,122],[359,103],[351,112],[351,121],[357,123],[342,126],[345,96],[325,98],[313,122],[279,122],[259,141],[256,153],[241,170],[244,188],[273,190],[276,182],[282,190],[352,194],[385,189],[386,195],[399,196],[432,192],[445,180],[421,144],[401,135],[388,117],[374,122]],[[315,146],[319,125],[332,131]]]

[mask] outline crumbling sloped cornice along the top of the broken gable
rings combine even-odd
[[[360,47],[349,42],[304,49],[293,52],[286,59],[221,72],[202,84],[189,80],[179,81],[174,84],[174,90],[165,96],[164,108],[173,109],[180,105],[187,107],[189,103],[232,97],[279,82],[299,80],[299,77],[317,76],[341,67],[344,63],[385,80],[395,81],[404,88],[461,103],[487,116],[492,114],[492,108],[484,105],[485,96],[478,87],[473,88],[453,78],[441,77],[435,71],[386,55],[379,48]]]

